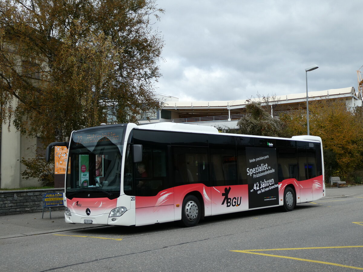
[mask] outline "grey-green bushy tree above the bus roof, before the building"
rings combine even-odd
[[[247,116],[242,117],[238,123],[238,133],[247,135],[286,137],[284,123],[273,118],[261,103],[249,102],[246,105]]]

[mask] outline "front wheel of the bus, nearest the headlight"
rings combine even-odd
[[[198,198],[187,195],[181,208],[181,224],[184,227],[193,227],[198,224],[201,217],[201,206]]]

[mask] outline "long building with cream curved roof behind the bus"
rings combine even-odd
[[[140,124],[175,122],[236,128],[237,121],[245,116],[248,104],[246,100],[179,102],[173,96],[158,94],[157,97],[163,102],[162,110],[150,113],[150,119],[141,119]],[[362,106],[362,94],[354,87],[309,92],[309,101],[321,99],[339,99],[347,107]],[[267,103],[258,98],[252,100],[267,104],[272,116],[297,108],[306,110],[306,92],[270,97]]]

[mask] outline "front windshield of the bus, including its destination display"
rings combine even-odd
[[[126,125],[82,129],[72,134],[66,197],[120,196],[121,162]]]

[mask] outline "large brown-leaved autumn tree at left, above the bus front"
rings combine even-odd
[[[159,108],[155,0],[0,0],[1,122],[46,143]]]

